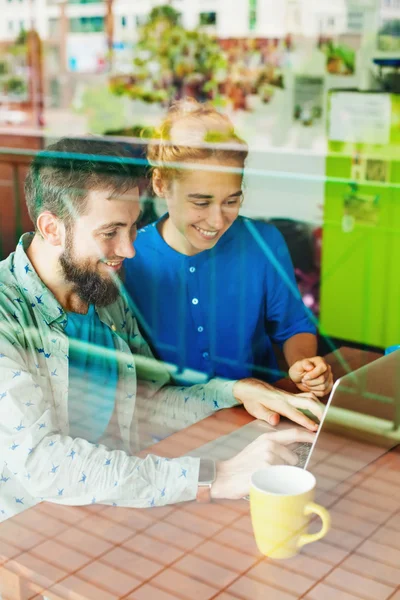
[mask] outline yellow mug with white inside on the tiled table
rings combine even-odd
[[[253,473],[250,512],[254,536],[262,554],[290,558],[305,544],[320,540],[330,527],[328,511],[313,502],[315,477],[289,465],[266,467]],[[318,533],[306,534],[310,515],[322,520]]]

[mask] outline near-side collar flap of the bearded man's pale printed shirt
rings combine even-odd
[[[50,325],[58,319],[64,321],[66,315],[60,303],[36,273],[26,254],[34,235],[30,232],[21,236],[14,255],[13,272],[19,285],[28,295],[32,308],[37,309],[43,320]]]

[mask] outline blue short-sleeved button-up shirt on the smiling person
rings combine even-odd
[[[125,285],[144,334],[159,358],[195,370],[199,381],[200,373],[275,381],[272,344],[316,333],[272,225],[239,217],[213,249],[186,256],[153,223],[139,231],[135,248]]]

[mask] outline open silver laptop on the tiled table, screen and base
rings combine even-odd
[[[286,419],[278,428],[255,420],[208,442],[188,456],[228,460],[263,433],[293,427],[298,425]],[[400,351],[397,351],[338,379],[313,444],[294,443],[288,448],[297,454],[297,466],[310,470],[316,467],[321,474],[329,468],[332,471],[332,465],[337,466],[342,458],[343,474],[337,467],[336,479],[333,479],[338,483],[341,477],[343,481],[399,443]],[[357,460],[351,460],[354,453]]]

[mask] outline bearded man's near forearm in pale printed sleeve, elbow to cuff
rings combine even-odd
[[[58,454],[61,455],[65,444],[71,444],[72,440],[65,436],[53,436],[51,439],[57,438]],[[51,458],[58,442],[52,448]],[[70,447],[76,448],[76,454],[69,452],[64,461],[54,456],[57,463],[52,463],[53,467],[59,467],[54,475],[43,473],[37,466],[39,461],[42,465],[49,462],[46,440],[39,444],[31,455],[35,463],[27,461],[31,478],[26,481],[19,477],[32,496],[73,506],[100,503],[132,508],[164,506],[195,499],[198,459],[182,457],[165,461],[152,454],[139,458],[102,446],[90,448],[85,442],[75,438]],[[36,459],[35,453],[38,455]]]

